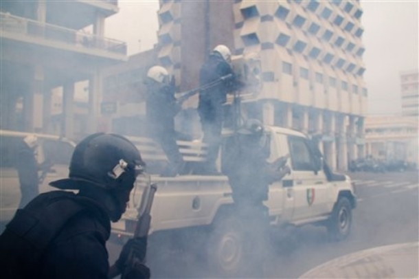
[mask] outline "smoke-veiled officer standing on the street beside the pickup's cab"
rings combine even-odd
[[[261,241],[269,239],[269,209],[263,204],[268,199],[269,184],[280,181],[291,171],[285,166],[287,156],[273,163],[267,162],[268,157],[269,141],[262,123],[247,120],[229,146],[224,171],[233,191],[238,217],[248,228],[249,243],[254,245],[249,247],[249,254],[258,254],[257,250],[264,247]]]

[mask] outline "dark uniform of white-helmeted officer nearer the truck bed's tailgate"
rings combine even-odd
[[[183,157],[176,143],[177,133],[174,130],[174,116],[181,107],[174,98],[172,87],[165,86],[157,92],[148,92],[146,99],[146,116],[150,125],[150,134],[159,142],[169,161],[167,174],[175,175],[183,168]]]

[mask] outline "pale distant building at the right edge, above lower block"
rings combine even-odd
[[[400,73],[402,115],[419,120],[419,74],[418,69]]]

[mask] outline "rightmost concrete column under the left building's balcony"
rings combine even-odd
[[[102,83],[100,82],[100,72],[97,71],[89,80],[89,125],[88,133],[95,133],[98,131],[98,118],[100,118],[100,102],[102,102]],[[115,100],[116,101],[116,100]],[[106,130],[110,130],[111,123],[109,119],[104,119]],[[104,123],[102,123],[104,125]],[[103,131],[103,128],[101,129]]]

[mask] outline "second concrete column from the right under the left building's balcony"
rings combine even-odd
[[[73,138],[74,137],[74,83],[68,82],[63,86],[63,124],[61,135]]]

